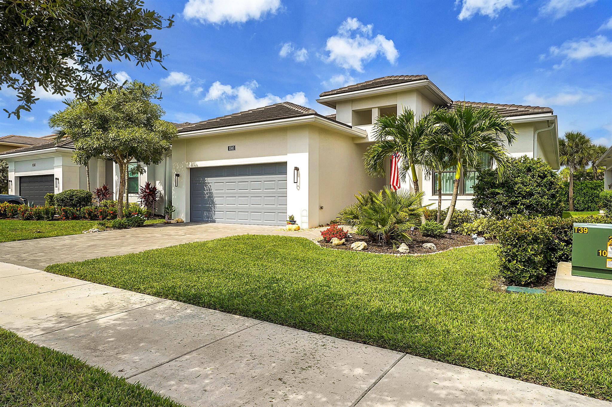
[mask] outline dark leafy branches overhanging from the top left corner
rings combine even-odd
[[[171,27],[143,8],[143,0],[4,0],[0,2],[0,89],[15,90],[20,110],[30,111],[35,90],[88,98],[117,87],[102,61],[161,63],[149,31]]]

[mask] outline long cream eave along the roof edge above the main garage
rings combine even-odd
[[[323,118],[319,115],[307,115],[293,118],[286,118],[280,120],[271,120],[271,121],[263,121],[259,123],[249,123],[249,124],[239,124],[237,126],[228,126],[221,128],[213,128],[213,129],[203,129],[203,130],[194,130],[179,133],[177,135],[178,139],[184,139],[187,137],[196,137],[202,135],[220,135],[220,134],[228,134],[237,131],[252,131],[259,129],[267,129],[274,128],[280,126],[296,126],[300,124],[313,124],[315,126],[334,129],[338,132],[343,132],[346,135],[351,137],[361,137],[367,138],[367,132],[362,129],[355,128],[353,126],[348,126],[348,124],[340,123],[335,120],[330,120],[327,118]]]

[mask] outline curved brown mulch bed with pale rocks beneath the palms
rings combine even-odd
[[[341,246],[332,246],[332,243],[327,243],[325,240],[319,240],[319,244],[322,247],[329,247],[339,250],[351,250],[351,243],[354,242],[366,242],[368,243],[368,247],[365,250],[368,253],[387,253],[387,254],[402,254],[397,251],[397,248],[394,249],[393,246],[381,245],[378,243],[372,243],[368,241],[368,238],[365,236],[358,236],[357,234],[350,234],[351,237],[346,237],[345,244]],[[474,239],[470,236],[464,236],[461,234],[452,234],[450,239],[445,235],[444,237],[425,237],[421,236],[418,230],[414,231],[414,234],[411,235],[412,242],[406,242],[406,245],[410,248],[409,253],[407,254],[429,254],[429,253],[437,253],[438,251],[447,250],[452,247],[460,247],[460,246],[468,246],[474,244]],[[433,243],[436,245],[436,250],[427,250],[423,247],[423,243]],[[494,240],[487,240],[487,243],[496,243]]]

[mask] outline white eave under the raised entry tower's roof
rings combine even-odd
[[[403,90],[418,89],[421,93],[427,96],[431,101],[436,102],[440,106],[448,106],[453,101],[446,96],[433,82],[429,79],[422,79],[421,81],[406,82],[404,84],[395,84],[388,86],[381,86],[379,88],[365,89],[365,90],[354,90],[353,92],[340,93],[338,95],[323,96],[322,98],[316,99],[318,103],[324,106],[336,108],[338,101],[346,99],[361,98],[365,96],[379,95],[381,93],[390,92],[401,92]]]

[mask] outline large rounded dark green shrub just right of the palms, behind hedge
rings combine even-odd
[[[483,170],[474,185],[472,204],[477,214],[498,219],[513,215],[561,215],[564,198],[559,175],[541,159],[510,160],[506,178]]]

